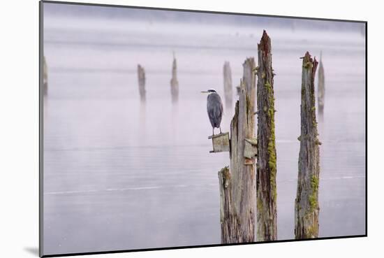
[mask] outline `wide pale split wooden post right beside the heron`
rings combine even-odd
[[[230,171],[219,171],[221,243],[255,240],[256,139],[253,101],[253,58],[246,59],[239,100],[230,123]],[[250,71],[250,72],[249,72]]]

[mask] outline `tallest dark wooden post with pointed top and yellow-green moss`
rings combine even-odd
[[[258,44],[257,106],[258,164],[257,241],[277,239],[276,227],[276,145],[274,134],[274,73],[271,40],[264,31]]]

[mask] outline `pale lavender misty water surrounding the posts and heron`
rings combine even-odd
[[[302,59],[325,68],[318,116],[319,236],[365,233],[365,46],[362,24],[44,3],[45,255],[220,243],[219,180],[202,90],[233,103],[263,29],[272,40],[278,239],[294,238]],[[185,17],[185,19],[184,19]],[[239,17],[239,19],[237,19]],[[172,52],[179,101],[172,104]],[[140,103],[137,65],[146,72]],[[317,76],[316,76],[317,79]],[[317,85],[317,80],[316,80]],[[218,131],[216,131],[218,132]],[[257,241],[257,239],[256,239]]]

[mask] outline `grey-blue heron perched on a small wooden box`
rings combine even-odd
[[[223,102],[221,102],[221,97],[217,94],[216,90],[208,89],[205,92],[207,93],[207,113],[209,121],[212,124],[212,135],[214,135],[214,128],[220,129],[221,134],[221,118],[223,117]]]

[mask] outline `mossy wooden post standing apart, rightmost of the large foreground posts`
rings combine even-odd
[[[295,200],[295,238],[318,237],[319,145],[314,80],[318,62],[303,57],[299,174]]]

